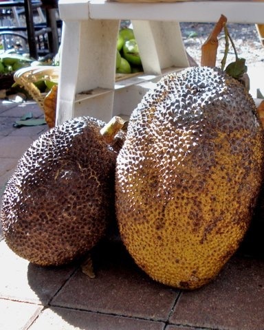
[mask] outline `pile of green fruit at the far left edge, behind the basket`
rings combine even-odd
[[[19,54],[1,54],[0,55],[0,74],[9,74],[15,72],[21,67],[28,67],[32,60]]]

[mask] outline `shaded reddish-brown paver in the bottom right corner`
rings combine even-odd
[[[264,329],[264,261],[233,257],[210,284],[181,294],[170,322],[225,330]]]

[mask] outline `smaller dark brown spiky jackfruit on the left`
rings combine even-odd
[[[117,153],[104,122],[74,118],[50,129],[21,157],[3,193],[9,247],[38,265],[62,265],[87,252],[114,214]]]

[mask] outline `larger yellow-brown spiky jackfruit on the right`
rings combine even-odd
[[[124,245],[156,281],[196,289],[248,230],[263,177],[252,98],[219,69],[162,78],[133,111],[116,166]]]

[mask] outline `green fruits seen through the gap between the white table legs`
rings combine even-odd
[[[142,72],[140,53],[131,28],[123,28],[118,33],[115,71],[117,74]]]

